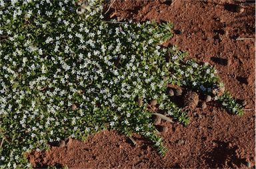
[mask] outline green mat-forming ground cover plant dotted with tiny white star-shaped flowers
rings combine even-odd
[[[101,1],[0,1],[0,15],[1,168],[30,167],[25,152],[105,129],[141,134],[164,155],[152,116],[189,123],[168,84],[243,113],[213,67],[161,47],[171,23],[104,21]]]

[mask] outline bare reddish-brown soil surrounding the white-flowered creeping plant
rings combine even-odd
[[[228,3],[227,3],[228,2]],[[129,139],[115,131],[71,140],[64,147],[32,152],[34,167],[69,168],[247,168],[255,167],[255,6],[239,13],[233,1],[115,1],[108,16],[119,20],[173,21],[175,35],[165,46],[178,45],[189,58],[209,62],[219,71],[227,90],[247,102],[243,116],[207,103],[191,112],[191,123],[162,122],[169,151],[163,158],[150,142]],[[236,40],[238,37],[253,39]],[[249,163],[248,163],[249,162]]]

